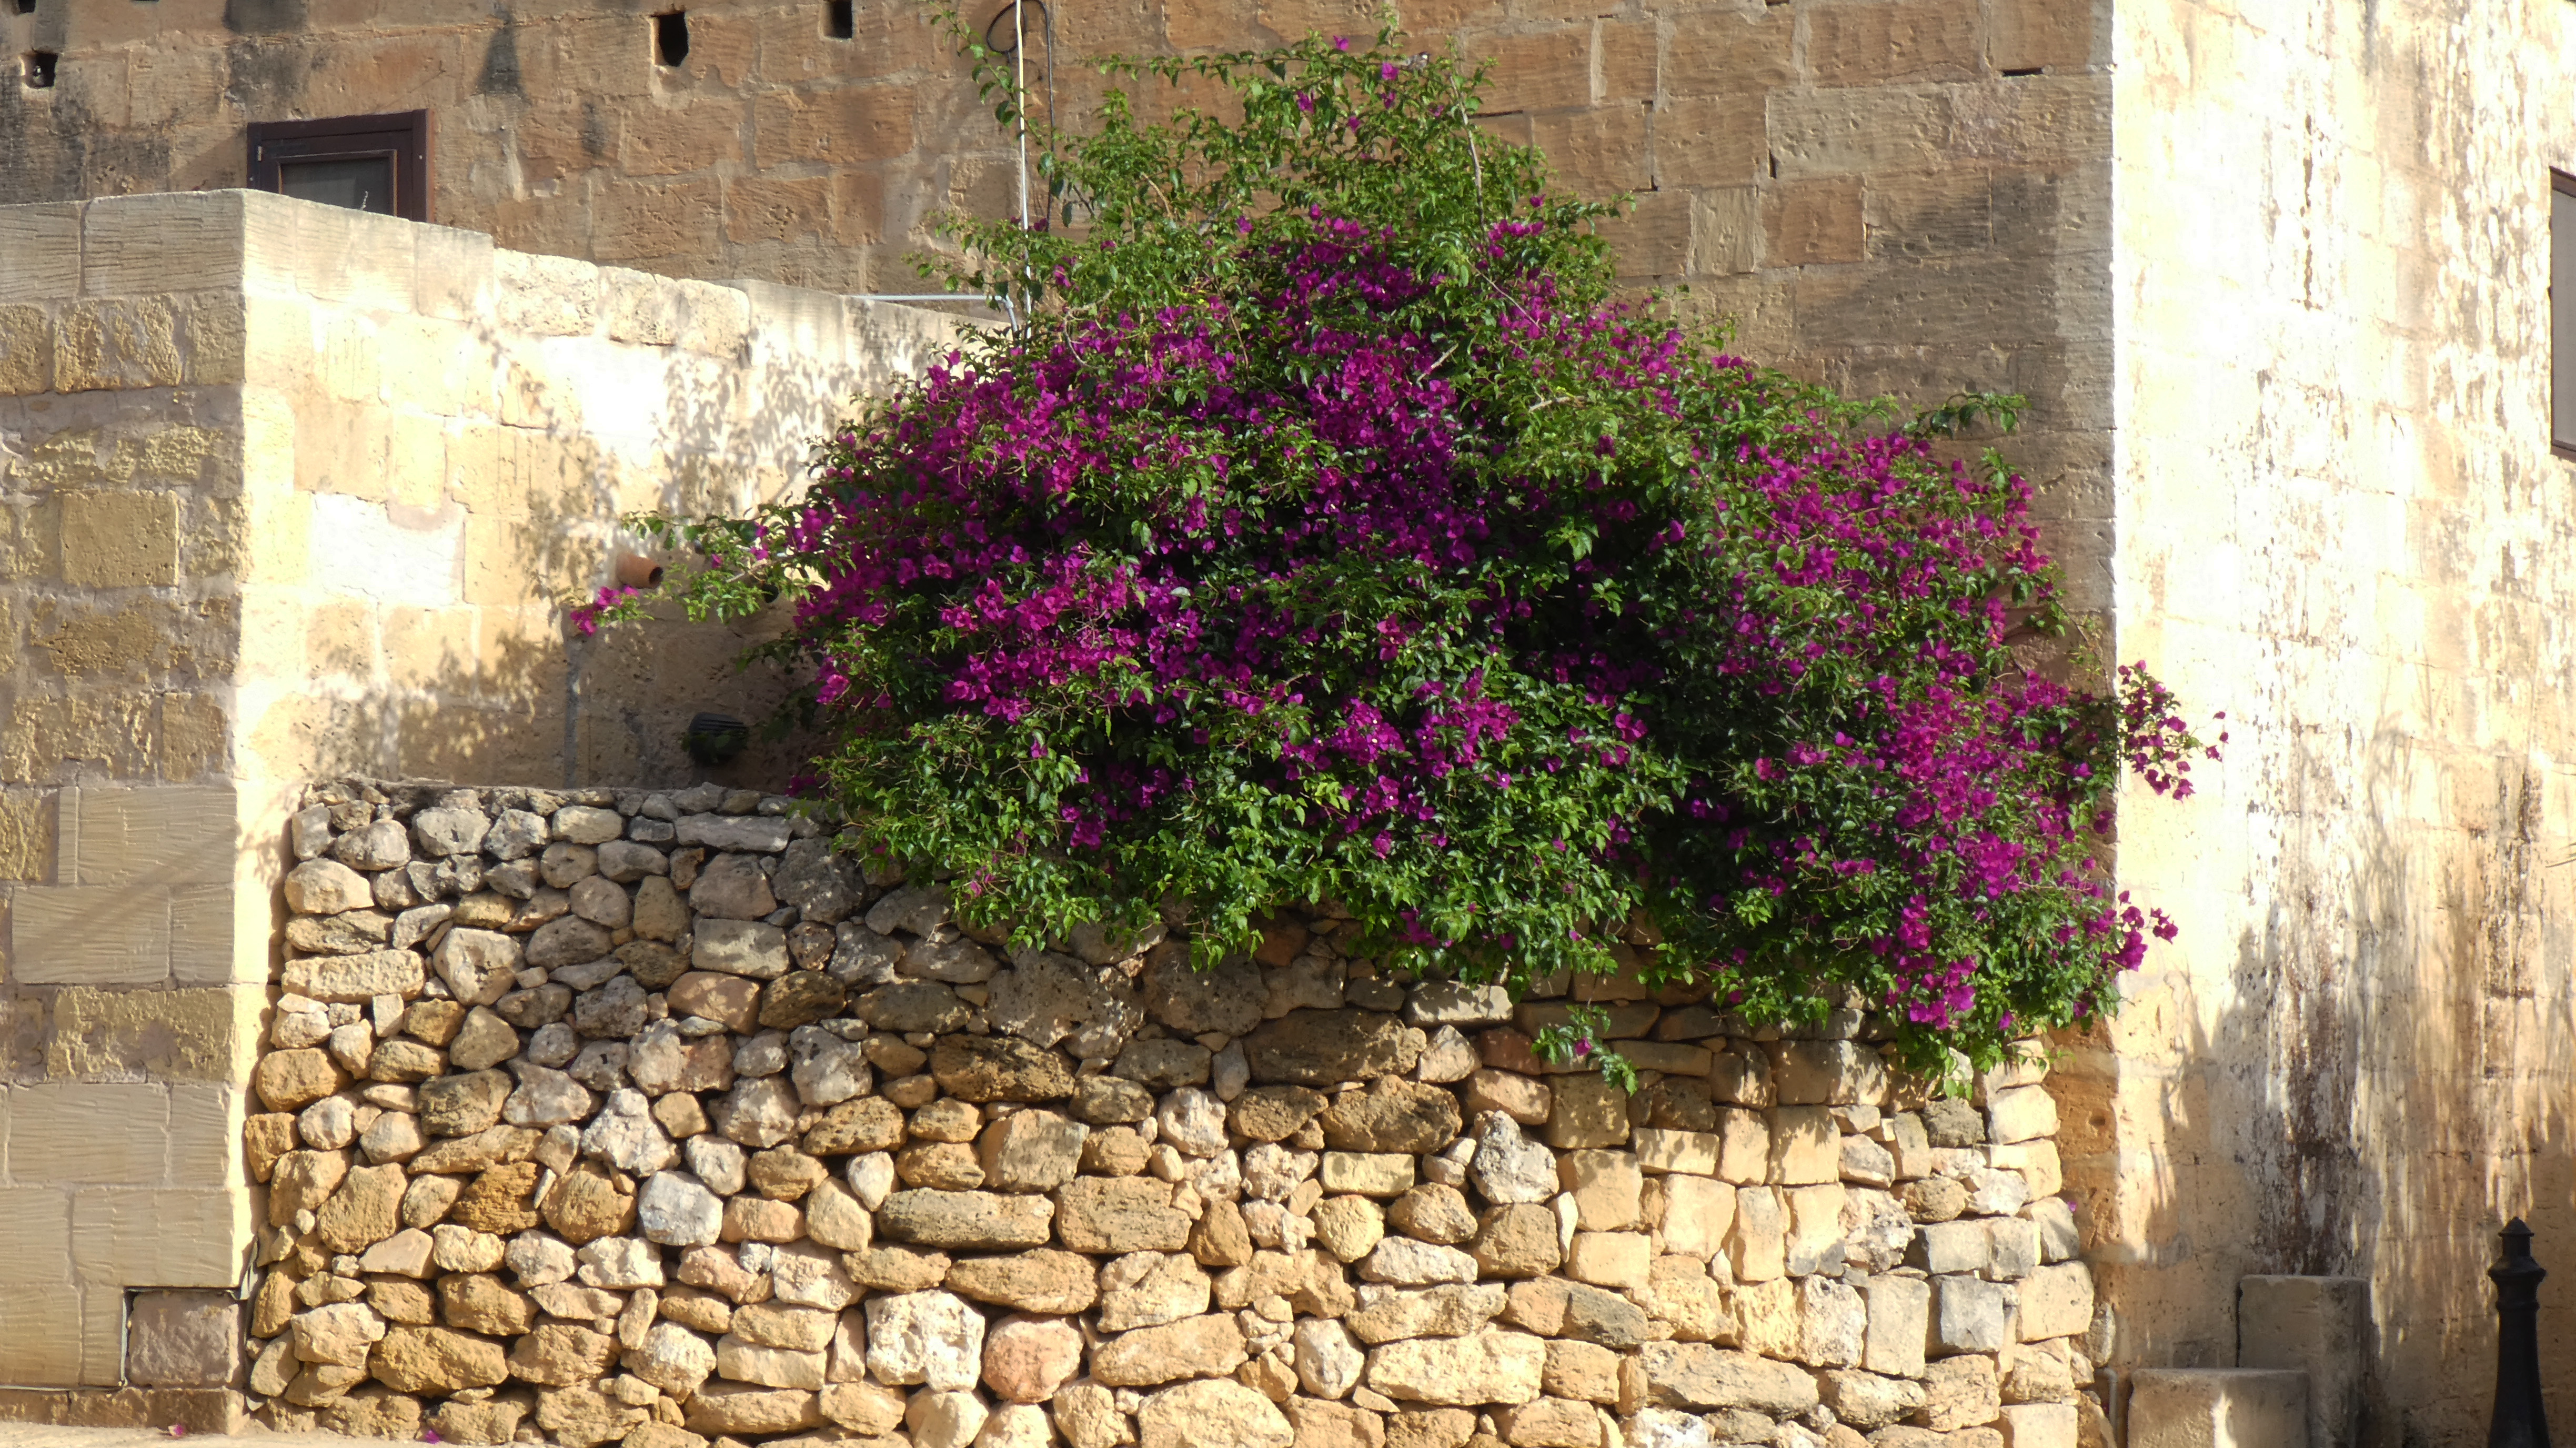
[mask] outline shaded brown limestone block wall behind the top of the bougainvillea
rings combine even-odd
[[[688,54],[657,64],[672,10]],[[981,26],[1002,5],[966,10]],[[1103,54],[1373,33],[1383,10],[1056,5],[1054,103],[1084,119]],[[1615,227],[1631,281],[1736,314],[1747,356],[1911,405],[2032,394],[2017,456],[2058,484],[2053,546],[2107,605],[2110,0],[1394,10],[1422,46],[1494,67],[1497,131],[1548,147],[1582,193],[1633,193]],[[0,85],[0,201],[240,186],[250,121],[428,108],[435,219],[502,247],[920,291],[907,255],[930,219],[1007,214],[1018,162],[930,8],[848,13],[840,39],[824,0],[39,0],[0,13],[0,54],[59,54],[52,88]]]

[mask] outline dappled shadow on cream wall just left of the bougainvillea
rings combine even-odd
[[[636,286],[667,304],[641,330],[675,343],[618,358],[662,363],[649,389],[567,381],[572,348],[487,319],[471,327],[477,366],[502,376],[497,441],[464,451],[448,479],[448,513],[459,495],[479,502],[459,564],[477,636],[446,639],[428,662],[309,709],[314,776],[531,786],[714,778],[775,791],[814,755],[814,737],[757,729],[801,680],[737,667],[788,624],[783,608],[724,624],[657,608],[582,634],[567,603],[608,585],[621,551],[644,549],[621,526],[629,513],[742,515],[801,487],[811,446],[853,399],[945,356],[953,319],[760,283]],[[724,350],[721,314],[744,294],[750,327]],[[701,711],[752,721],[752,745],[714,768],[690,760],[683,734]]]

